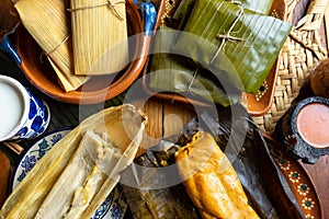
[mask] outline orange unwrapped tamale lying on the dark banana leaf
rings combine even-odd
[[[175,153],[186,193],[203,218],[258,218],[229,160],[207,132]]]

